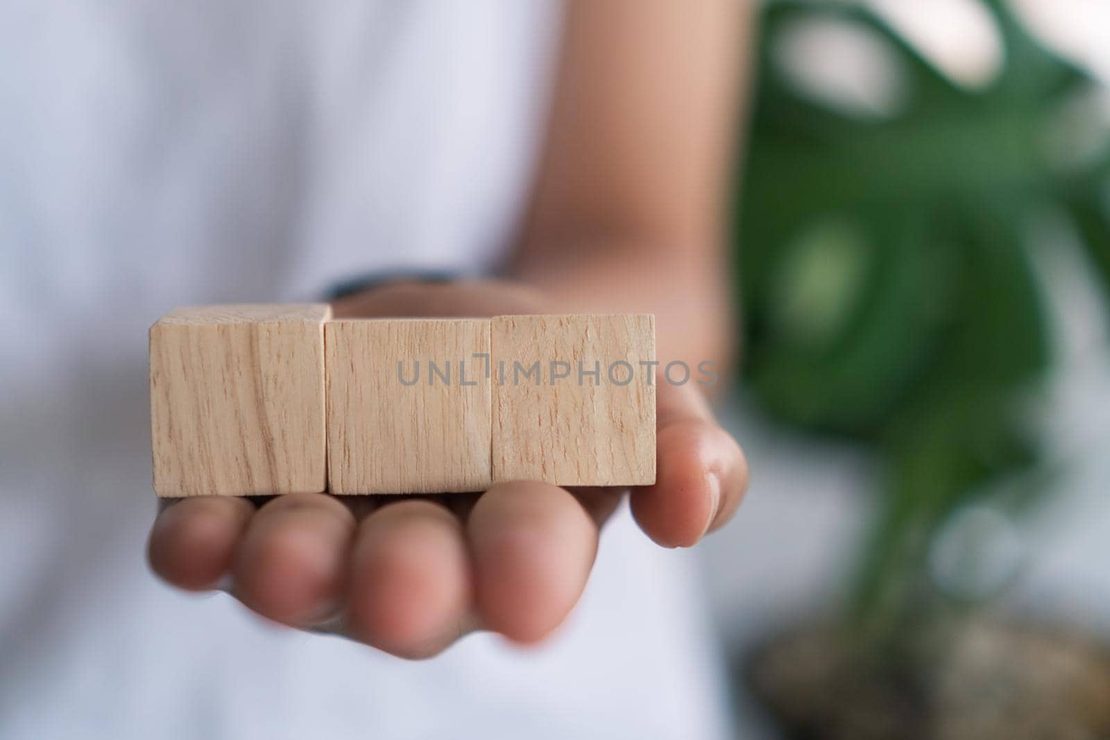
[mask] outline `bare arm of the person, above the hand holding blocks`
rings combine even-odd
[[[654,313],[660,359],[729,362],[723,247],[753,8],[568,3],[545,151],[507,276],[561,310]]]

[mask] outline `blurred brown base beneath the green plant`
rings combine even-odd
[[[970,621],[921,660],[864,660],[844,630],[808,627],[747,662],[786,738],[1110,738],[1110,649],[1061,628]]]

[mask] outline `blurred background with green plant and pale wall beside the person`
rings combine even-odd
[[[773,1],[758,55],[738,736],[1107,737],[1110,3]]]

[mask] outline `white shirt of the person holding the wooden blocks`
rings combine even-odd
[[[391,266],[478,273],[531,175],[551,0],[0,3],[0,738],[709,738],[683,553],[627,513],[538,650],[405,662],[143,559],[147,328]]]

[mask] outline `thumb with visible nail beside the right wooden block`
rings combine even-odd
[[[693,386],[658,388],[656,481],[633,491],[640,528],[665,547],[689,547],[728,520],[748,485],[736,440]]]

